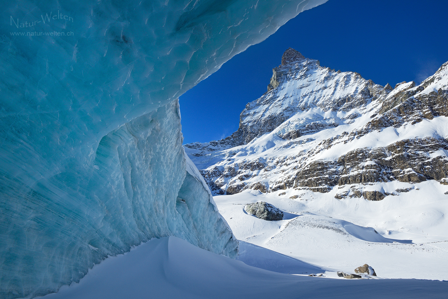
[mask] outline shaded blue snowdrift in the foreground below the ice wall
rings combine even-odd
[[[282,258],[271,262],[281,263]],[[447,282],[438,281],[326,279],[276,273],[167,237],[108,258],[79,283],[63,286],[58,293],[43,298],[354,299],[369,294],[375,298],[417,299],[445,298],[447,291]]]

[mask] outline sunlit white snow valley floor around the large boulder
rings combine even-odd
[[[327,277],[336,278],[335,271],[354,273],[356,267],[369,264],[379,277],[447,280],[443,265],[448,261],[448,200],[425,196],[434,194],[429,190],[433,186],[422,182],[420,190],[378,202],[339,200],[310,191],[289,199],[290,194],[278,195],[282,190],[267,195],[243,191],[214,199],[237,239],[314,264],[327,271]],[[288,191],[292,192],[297,193]],[[284,220],[265,221],[246,213],[244,205],[257,201],[283,210]],[[240,259],[257,265],[246,256]],[[287,266],[274,265],[271,270],[282,272],[283,267]],[[286,273],[302,274],[301,270]]]

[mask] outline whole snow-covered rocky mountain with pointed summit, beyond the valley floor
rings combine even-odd
[[[292,198],[381,200],[426,180],[448,185],[447,117],[448,62],[418,86],[392,88],[289,48],[235,133],[184,147],[214,195],[288,189]]]

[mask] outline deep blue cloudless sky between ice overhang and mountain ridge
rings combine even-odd
[[[329,0],[300,13],[180,97],[184,143],[237,130],[289,47],[381,85],[419,83],[448,61],[448,1]]]

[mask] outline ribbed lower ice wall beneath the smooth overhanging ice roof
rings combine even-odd
[[[19,209],[10,208],[2,222],[2,263],[10,267],[2,273],[9,283],[2,290],[78,281],[94,263],[153,237],[175,235],[236,255],[237,243],[208,189],[186,172],[177,105],[108,133],[93,168],[43,178]]]

